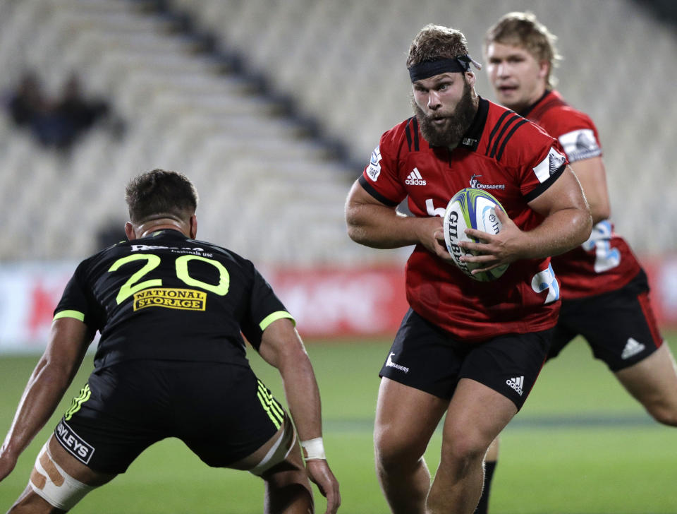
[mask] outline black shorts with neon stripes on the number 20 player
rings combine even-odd
[[[94,371],[54,434],[98,472],[123,473],[168,437],[207,465],[227,467],[268,441],[285,416],[248,367],[138,360]]]

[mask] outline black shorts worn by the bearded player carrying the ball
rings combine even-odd
[[[552,330],[461,342],[412,309],[404,316],[379,376],[451,399],[471,378],[524,405],[545,362]]]

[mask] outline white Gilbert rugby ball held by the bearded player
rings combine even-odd
[[[451,253],[453,262],[458,269],[473,280],[480,282],[489,282],[496,280],[506,273],[508,264],[472,275],[472,270],[481,268],[482,265],[476,263],[461,262],[461,256],[474,255],[475,252],[465,250],[458,246],[460,241],[479,242],[479,239],[468,237],[465,229],[477,229],[489,234],[498,234],[502,225],[499,217],[496,216],[496,206],[503,209],[494,196],[484,189],[468,187],[458,191],[446,205],[444,212],[444,242],[446,249]]]

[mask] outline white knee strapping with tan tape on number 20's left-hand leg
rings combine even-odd
[[[37,455],[29,484],[35,494],[42,496],[50,505],[62,510],[70,510],[95,487],[83,484],[63,471],[49,455],[47,444],[44,444]]]

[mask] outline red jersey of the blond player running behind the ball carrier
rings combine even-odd
[[[592,119],[573,109],[559,92],[546,91],[522,115],[558,138],[569,162],[602,155]],[[597,223],[583,245],[553,257],[552,265],[565,300],[619,289],[640,271],[630,246],[614,232],[609,220]]]

